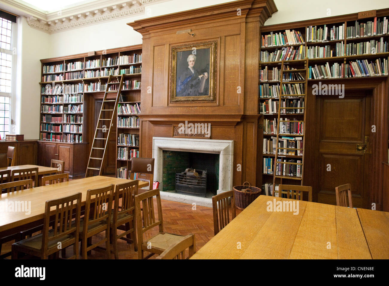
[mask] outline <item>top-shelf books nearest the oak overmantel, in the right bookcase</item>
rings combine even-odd
[[[283,33],[270,32],[268,35],[261,36],[262,47],[277,47],[286,45],[305,44],[303,35],[300,31],[285,30]]]

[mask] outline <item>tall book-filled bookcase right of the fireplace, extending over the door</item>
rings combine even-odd
[[[263,189],[265,184],[266,186],[275,186],[281,182],[300,184],[303,180],[303,176],[301,178],[274,176],[272,168],[267,171],[266,160],[270,161],[274,168],[274,161],[277,158],[272,148],[275,149],[279,142],[277,125],[280,123],[278,104],[280,104],[282,84],[281,67],[289,65],[296,68],[296,72],[302,72],[305,67],[301,64],[301,60],[304,60],[307,67],[305,80],[312,84],[318,84],[319,81],[331,84],[336,80],[339,84],[349,80],[387,79],[388,19],[387,10],[382,10],[377,11],[375,18],[357,19],[356,14],[350,14],[260,27],[258,114],[261,114],[263,126],[263,134],[259,138],[262,147],[259,165],[262,167]],[[309,100],[308,98],[309,96],[306,100]],[[296,100],[297,103],[302,100],[299,94],[290,95],[288,99]],[[304,106],[307,106],[307,101],[304,102]],[[307,110],[307,112],[314,111]],[[309,122],[305,122],[306,112],[287,114],[287,116],[288,120],[304,121],[307,123],[304,128],[310,128]],[[302,137],[290,134],[286,136],[294,137],[295,142],[296,137]],[[305,140],[301,142],[303,145],[309,144]],[[283,160],[302,161],[303,154],[298,151],[293,152],[294,154],[282,154],[285,157]]]

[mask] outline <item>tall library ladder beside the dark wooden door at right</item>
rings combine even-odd
[[[287,69],[285,70],[284,69],[284,65],[285,64],[300,64],[300,66],[304,65],[304,68],[296,68],[296,69]],[[304,80],[284,80],[284,75],[287,75],[287,74],[290,74],[290,73],[298,73],[298,74],[305,74],[305,79]],[[284,94],[284,85],[287,85],[287,84],[304,84],[304,93],[303,94]],[[276,179],[280,179],[280,184],[282,184],[282,180],[283,179],[292,179],[292,180],[296,180],[298,181],[298,185],[303,185],[303,170],[304,170],[304,150],[305,150],[305,138],[304,138],[304,135],[305,135],[305,129],[306,129],[306,125],[305,125],[305,118],[306,118],[306,112],[305,112],[305,107],[307,106],[307,102],[306,102],[306,95],[307,95],[307,88],[308,88],[308,59],[304,59],[304,60],[293,60],[293,61],[282,61],[281,62],[281,74],[280,74],[280,92],[279,92],[279,102],[278,102],[278,121],[277,121],[277,140],[276,140],[276,146],[275,146],[275,157],[274,157],[274,168],[273,168],[273,196],[275,196],[275,183],[276,183]],[[286,90],[286,89],[285,89]],[[304,99],[304,106],[303,107],[282,107],[282,100],[287,100],[287,99],[291,99],[291,98],[297,98],[298,100],[301,100],[301,99]],[[303,111],[303,120],[281,120],[280,121],[280,117],[281,117],[281,111],[282,110],[287,110],[287,109],[294,109],[294,110],[302,110]],[[301,112],[299,113],[300,116],[302,115]],[[287,112],[284,112],[283,115],[285,116],[288,116],[288,115],[299,115],[299,114],[292,114],[292,113],[287,113]],[[286,119],[286,118],[285,118]],[[299,119],[299,118],[298,118]],[[303,126],[302,126],[302,134],[287,134],[287,132],[285,132],[285,128],[283,128],[283,130],[281,130],[280,132],[280,123],[281,122],[284,122],[284,125],[287,125],[288,123],[291,124],[291,123],[302,123]],[[282,136],[286,136],[286,137],[302,137],[303,139],[303,147],[301,148],[297,148],[297,142],[295,143],[295,146],[294,148],[291,148],[291,147],[288,147],[288,146],[279,146],[279,142],[280,142],[280,137]],[[296,141],[296,140],[295,140]],[[284,154],[284,150],[287,150],[287,154]],[[292,154],[288,154],[289,153],[289,150],[291,150],[292,152],[294,151],[294,155]],[[301,155],[297,155],[296,156],[296,151],[297,151],[297,154],[299,153],[298,151],[302,151],[302,156]],[[282,152],[279,154],[279,152]],[[301,159],[301,163],[296,163],[296,162],[287,162],[287,161],[282,161],[282,159],[280,159],[281,161],[277,161],[279,158],[278,157],[282,157],[282,158],[288,158],[288,159],[296,159],[296,161],[298,159]],[[278,167],[281,167],[281,171],[284,169],[283,168],[283,165],[300,165],[300,176],[289,176],[289,175],[283,175],[283,172],[281,172],[280,174],[277,174],[277,170],[278,170]],[[281,196],[280,196],[281,197]]]

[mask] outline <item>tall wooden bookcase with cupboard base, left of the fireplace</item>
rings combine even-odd
[[[109,75],[125,74],[124,81],[136,80],[140,84],[142,62],[128,61],[128,56],[134,54],[142,54],[142,45],[41,60],[40,165],[49,165],[51,159],[63,160],[70,177],[85,174],[95,117],[100,112]],[[50,66],[58,68],[50,69]],[[140,88],[126,88],[122,94],[126,101],[140,104]],[[125,133],[123,130],[130,129],[119,130]],[[139,129],[131,129],[131,133],[139,134]],[[123,165],[117,163],[116,135],[112,135],[107,147],[105,174],[117,175],[116,167]]]

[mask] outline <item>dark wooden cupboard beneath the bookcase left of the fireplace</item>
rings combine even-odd
[[[72,179],[84,177],[89,143],[54,143],[39,141],[39,164],[49,167],[51,159],[65,161],[63,170]]]

